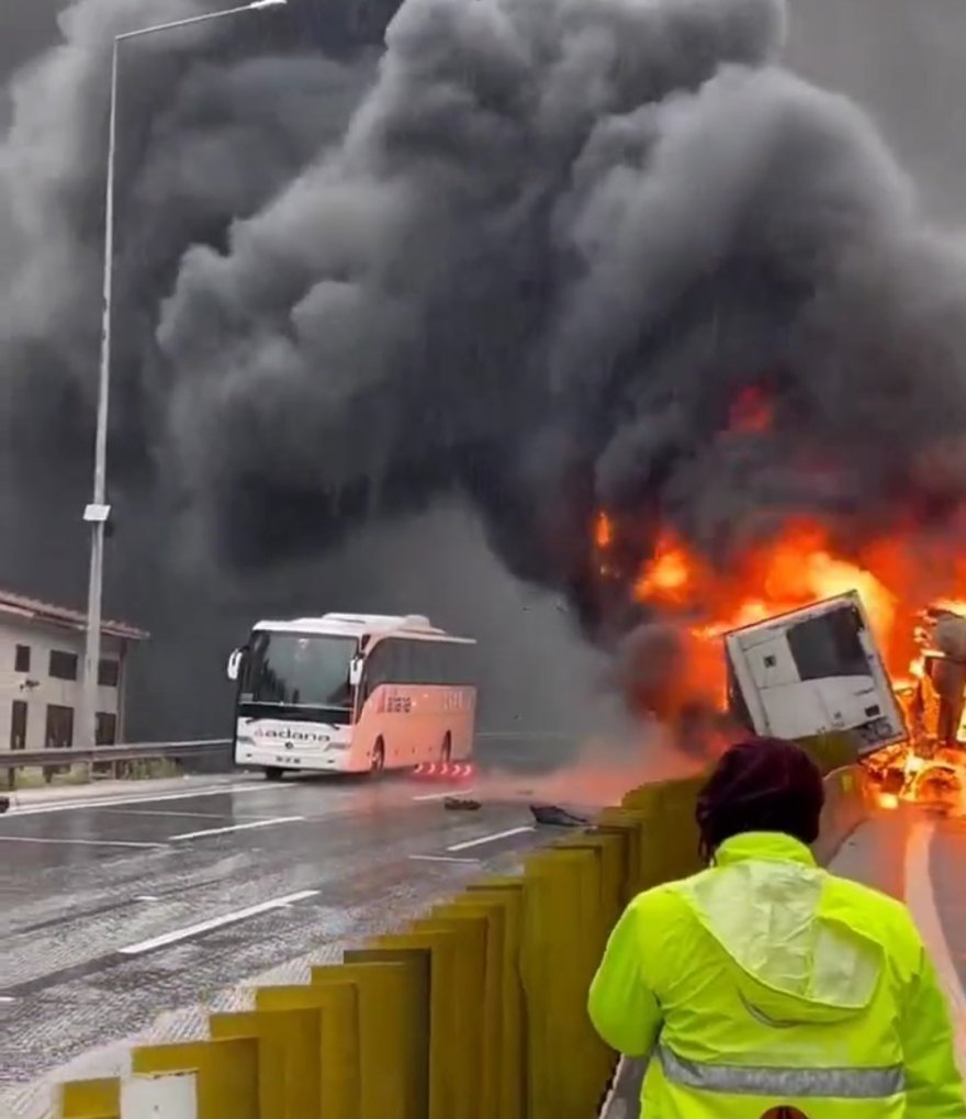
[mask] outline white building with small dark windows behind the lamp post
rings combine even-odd
[[[66,750],[77,733],[86,618],[0,590],[0,755]],[[148,634],[105,621],[101,638],[97,742],[124,741],[127,652]]]

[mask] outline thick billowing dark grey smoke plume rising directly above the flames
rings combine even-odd
[[[966,273],[864,115],[775,66],[784,30],[766,0],[410,0],[343,142],[189,250],[160,317],[216,544],[263,563],[456,488],[596,624],[595,506],[713,552],[918,498],[966,415]],[[763,384],[778,433],[722,439]]]

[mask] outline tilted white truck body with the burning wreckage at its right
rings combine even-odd
[[[966,617],[925,611],[920,653],[893,681],[858,591],[723,634],[728,712],[757,734],[846,733],[899,798],[962,803],[966,787]]]

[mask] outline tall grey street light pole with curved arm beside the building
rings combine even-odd
[[[117,66],[121,45],[129,39],[207,23],[245,11],[261,11],[287,0],[252,0],[220,11],[154,23],[114,36],[111,49],[111,110],[107,124],[107,178],[104,201],[104,283],[101,308],[101,363],[97,377],[97,430],[94,438],[94,487],[84,520],[91,525],[91,580],[87,589],[87,634],[84,649],[84,683],[80,702],[80,745],[93,746],[97,736],[97,676],[101,664],[101,621],[104,590],[104,538],[111,506],[107,505],[107,416],[111,393],[111,327],[114,293],[114,169],[117,149]]]

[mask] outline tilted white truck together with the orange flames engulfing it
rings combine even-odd
[[[806,519],[718,562],[665,527],[628,565],[629,532],[598,513],[593,555],[598,585],[651,619],[618,658],[632,712],[703,760],[737,727],[847,734],[884,803],[966,809],[966,601],[949,596],[966,589],[960,548],[918,534],[846,551]]]

